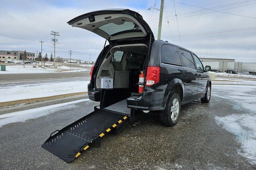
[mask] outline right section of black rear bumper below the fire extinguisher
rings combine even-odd
[[[164,92],[145,88],[140,96],[131,96],[127,98],[127,107],[140,110],[163,110]]]

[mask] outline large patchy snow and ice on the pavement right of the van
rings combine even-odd
[[[223,91],[227,92],[226,96],[217,95]],[[242,146],[238,153],[256,164],[256,86],[214,85],[212,96],[230,100],[234,109],[240,111],[240,114],[216,116],[216,123],[236,135]]]

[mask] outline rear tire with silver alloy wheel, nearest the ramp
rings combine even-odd
[[[161,123],[166,126],[174,126],[180,117],[180,109],[180,96],[177,93],[170,94],[165,109],[160,111]]]

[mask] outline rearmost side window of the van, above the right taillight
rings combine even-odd
[[[177,47],[164,44],[161,47],[161,62],[181,66],[180,55]]]

